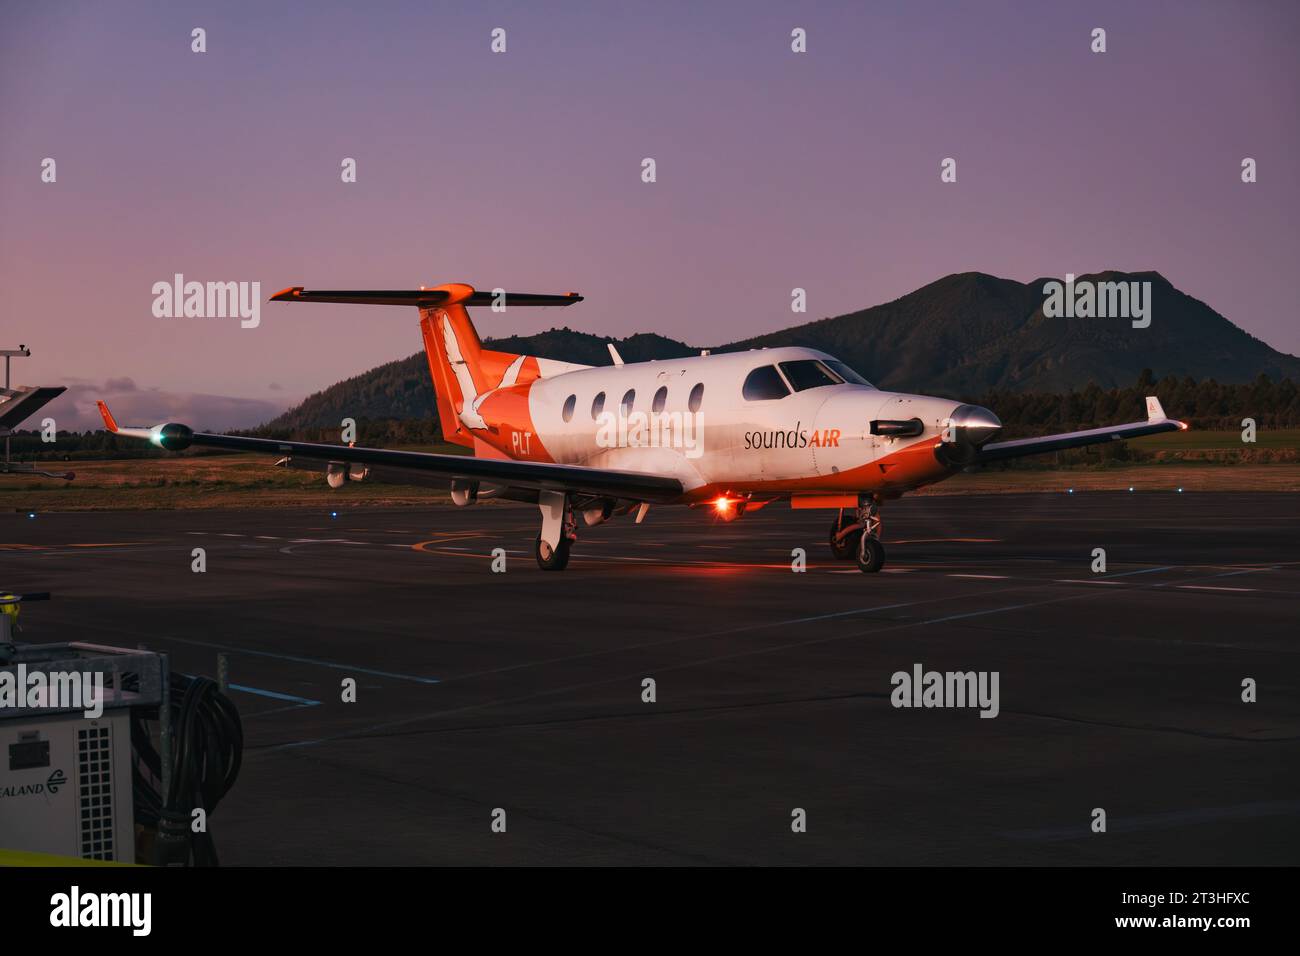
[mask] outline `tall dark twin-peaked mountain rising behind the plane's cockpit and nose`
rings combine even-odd
[[[1049,319],[1043,287],[965,272],[883,306],[725,346],[803,345],[844,359],[868,381],[900,392],[953,398],[1011,392],[1066,392],[1089,382],[1130,385],[1145,368],[1167,375],[1252,381],[1300,377],[1300,359],[1243,332],[1157,272],[1104,272],[1083,281],[1150,282],[1150,325],[1124,319]]]

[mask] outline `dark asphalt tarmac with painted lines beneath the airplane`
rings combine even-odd
[[[4,514],[0,588],[226,654],[228,865],[1300,861],[1295,496],[904,498],[875,575],[832,514],[653,507],[558,574],[532,506]],[[997,715],[894,706],[918,666]]]

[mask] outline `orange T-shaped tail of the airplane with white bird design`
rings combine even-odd
[[[445,441],[474,447],[469,429],[484,428],[478,403],[493,389],[521,385],[551,373],[581,365],[547,362],[528,355],[484,349],[478,332],[469,321],[467,306],[572,306],[577,293],[536,295],[532,293],[480,293],[463,282],[433,289],[389,291],[307,291],[302,286],[285,289],[272,302],[338,302],[359,306],[416,306],[420,333],[429,359],[429,375],[438,402],[438,421]]]

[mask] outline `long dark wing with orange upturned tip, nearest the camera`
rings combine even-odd
[[[153,425],[152,428],[122,428],[113,420],[107,405],[103,402],[98,405],[100,415],[104,418],[104,427],[109,432],[144,438],[162,449],[181,450],[190,445],[202,445],[229,451],[261,451],[290,459],[294,467],[315,464],[321,471],[330,463],[360,464],[369,468],[376,480],[394,484],[428,485],[450,480],[482,481],[524,492],[573,492],[653,502],[672,501],[685,490],[681,483],[672,477],[632,471],[585,468],[576,464],[246,438],[235,434],[194,432],[187,425],[177,423]]]

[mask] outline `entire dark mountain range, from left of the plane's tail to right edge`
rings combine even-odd
[[[801,345],[836,355],[884,389],[972,399],[991,390],[1062,393],[1088,384],[1127,386],[1144,369],[1248,382],[1260,375],[1300,378],[1300,359],[1279,352],[1157,272],[1104,272],[1083,281],[1150,282],[1150,325],[1127,319],[1048,317],[1044,285],[980,272],[946,276],[900,299],[714,346],[714,351]],[[590,365],[610,364],[611,339],[572,329],[490,342],[500,351]],[[694,355],[697,347],[655,334],[612,339],[627,362]],[[335,427],[342,418],[434,418],[424,354],[332,385],[264,428]]]

